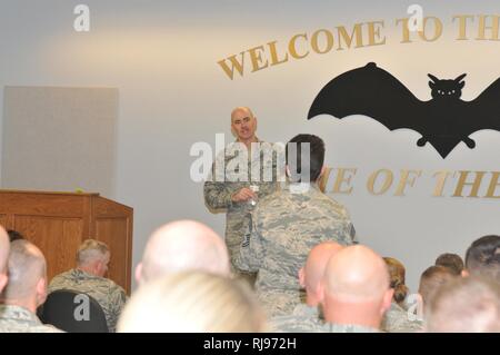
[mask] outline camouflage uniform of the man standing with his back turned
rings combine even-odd
[[[299,269],[311,248],[327,240],[357,243],[346,208],[316,185],[288,185],[260,201],[251,214],[237,265],[259,273],[256,290],[268,316],[290,314],[280,309],[280,297],[291,297],[290,304],[300,303],[304,293]]]

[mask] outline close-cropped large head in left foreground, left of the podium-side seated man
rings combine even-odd
[[[33,244],[28,240],[12,241],[8,269],[9,284],[2,294],[2,298],[7,303],[44,297],[46,258]]]

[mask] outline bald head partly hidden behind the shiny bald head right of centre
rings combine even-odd
[[[317,298],[318,288],[327,268],[328,260],[343,248],[338,243],[324,241],[314,246],[309,253],[304,267],[299,273],[302,287],[306,287],[309,298]],[[311,299],[312,303],[313,299]],[[309,302],[308,302],[309,303]],[[311,306],[313,304],[310,304]]]

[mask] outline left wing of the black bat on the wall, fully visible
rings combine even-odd
[[[322,114],[338,118],[364,115],[390,130],[409,128],[424,135],[427,110],[427,102],[417,99],[391,73],[370,62],[327,83],[312,102],[308,119]]]

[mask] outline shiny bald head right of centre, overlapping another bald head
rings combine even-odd
[[[364,246],[337,253],[327,265],[323,280],[327,294],[347,302],[380,298],[390,285],[386,263]]]

